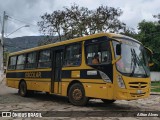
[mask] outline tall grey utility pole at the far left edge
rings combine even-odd
[[[1,32],[1,39],[0,39],[0,71],[3,74],[4,73],[4,66],[3,66],[3,52],[4,52],[4,26],[5,26],[5,20],[6,20],[6,12],[3,13],[3,23],[2,23],[2,32]]]

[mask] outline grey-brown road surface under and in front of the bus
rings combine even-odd
[[[151,117],[133,117],[133,113],[143,113],[145,111],[158,114],[159,117],[152,117],[154,120],[160,119],[160,95],[150,95],[149,98],[133,101],[118,100],[113,104],[106,105],[101,100],[90,100],[87,106],[73,106],[68,103],[67,97],[46,95],[45,93],[36,93],[31,97],[21,97],[18,90],[0,84],[0,111],[45,111],[44,116],[53,115],[56,111],[60,111],[59,116],[52,116],[54,119],[114,119],[114,120],[150,120]],[[53,111],[49,113],[48,111]],[[62,112],[63,111],[63,112]],[[77,111],[77,112],[73,112]],[[100,112],[99,112],[100,111]],[[159,112],[157,112],[159,111]],[[68,112],[68,113],[65,113]],[[90,112],[90,114],[88,114]],[[85,113],[85,114],[84,114]],[[94,114],[94,113],[97,113]],[[102,113],[102,114],[99,114]],[[66,115],[67,114],[67,115]],[[76,116],[75,116],[76,114]],[[130,116],[131,114],[131,116]],[[147,113],[148,114],[148,113]],[[93,115],[93,116],[92,116]],[[145,115],[145,114],[144,114]],[[24,118],[24,119],[51,119],[50,117],[42,118]],[[126,116],[125,118],[122,116]],[[0,120],[11,120],[12,118],[2,118]],[[19,118],[16,118],[18,119]],[[21,118],[22,119],[22,118]]]

